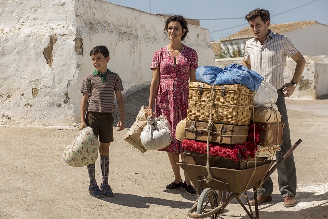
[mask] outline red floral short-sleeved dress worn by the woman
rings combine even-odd
[[[156,116],[166,115],[172,126],[171,144],[159,151],[181,154],[184,150],[181,142],[175,139],[176,126],[180,120],[187,117],[188,80],[190,70],[198,67],[198,56],[194,49],[184,46],[176,61],[174,59],[167,47],[163,47],[154,53],[150,68],[160,70],[160,83],[155,100]]]

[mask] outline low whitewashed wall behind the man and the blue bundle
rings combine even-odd
[[[290,99],[316,99],[328,95],[328,56],[304,56],[306,65],[299,85]],[[231,63],[241,64],[243,58],[215,59],[215,66],[224,68]],[[294,75],[296,62],[287,58],[284,67],[284,82],[289,83]]]

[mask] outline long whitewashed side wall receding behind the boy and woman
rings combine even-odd
[[[78,61],[82,66],[82,73],[77,85],[80,86],[84,76],[94,70],[89,52],[96,45],[108,47],[108,67],[120,75],[124,92],[150,83],[153,53],[169,43],[163,33],[164,17],[94,0],[77,0],[76,15],[77,35],[83,39],[83,57]],[[207,29],[189,25],[184,43],[197,51],[199,65],[214,64],[214,52],[209,43]],[[75,105],[80,101],[79,96],[77,97],[74,100]],[[78,110],[75,112],[77,116]]]

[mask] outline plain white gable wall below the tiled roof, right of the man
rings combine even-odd
[[[328,55],[328,26],[313,24],[291,32],[287,36],[302,55]]]

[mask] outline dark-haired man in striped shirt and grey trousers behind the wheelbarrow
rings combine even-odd
[[[259,8],[252,10],[245,16],[245,19],[248,21],[255,38],[246,42],[245,57],[242,64],[248,69],[261,74],[265,81],[277,88],[278,92],[276,104],[282,115],[282,122],[285,123],[281,151],[276,154],[278,162],[291,148],[285,97],[290,97],[295,91],[305,66],[305,59],[287,37],[274,34],[269,29],[270,13],[268,10]],[[284,84],[283,68],[287,56],[296,62],[296,68],[292,80]],[[293,154],[286,158],[278,167],[277,172],[279,191],[284,197],[284,207],[295,206],[297,204],[295,199],[297,181]],[[273,182],[269,178],[258,192],[258,204],[271,202],[272,191]],[[251,200],[250,204],[255,205],[255,201]]]

